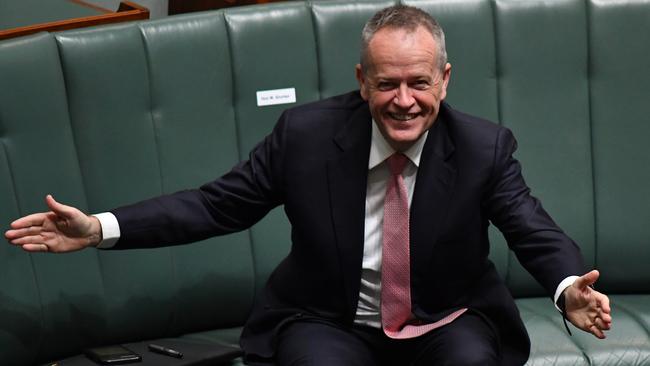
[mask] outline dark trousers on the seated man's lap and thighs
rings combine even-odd
[[[407,340],[390,339],[380,329],[311,319],[288,325],[278,334],[277,344],[277,366],[500,364],[498,335],[489,321],[474,313]]]

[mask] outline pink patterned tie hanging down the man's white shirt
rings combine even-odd
[[[409,255],[409,204],[402,171],[404,154],[388,158],[390,178],[384,200],[384,243],[381,262],[381,322],[390,338],[414,338],[449,324],[467,309],[457,310],[430,324],[412,325],[411,270]]]

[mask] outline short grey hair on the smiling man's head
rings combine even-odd
[[[445,47],[445,33],[440,24],[420,8],[408,5],[394,5],[384,8],[375,15],[363,27],[361,32],[361,69],[365,73],[370,67],[368,60],[368,45],[372,37],[383,28],[404,29],[415,32],[419,27],[424,27],[433,36],[438,46],[438,68],[443,70],[447,63],[447,49]]]

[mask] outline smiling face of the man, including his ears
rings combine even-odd
[[[437,50],[425,28],[383,28],[368,44],[368,70],[356,67],[361,96],[397,151],[411,147],[433,125],[447,95],[451,65],[440,70]]]

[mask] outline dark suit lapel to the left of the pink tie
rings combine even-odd
[[[332,220],[344,276],[349,320],[354,317],[363,258],[364,217],[371,122],[367,104],[351,115],[334,138],[340,154],[327,166]]]

